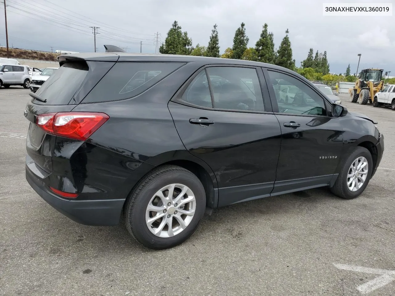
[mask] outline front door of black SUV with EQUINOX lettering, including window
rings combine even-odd
[[[329,184],[343,146],[339,118],[327,116],[329,104],[306,82],[285,72],[264,73],[282,134],[273,194]]]

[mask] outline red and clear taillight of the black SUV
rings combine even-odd
[[[38,116],[37,126],[56,136],[85,141],[109,118],[94,112],[46,113]]]

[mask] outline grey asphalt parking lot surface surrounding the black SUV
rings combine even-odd
[[[360,197],[313,189],[227,206],[184,244],[152,251],[123,225],[71,221],[30,188],[28,90],[1,88],[0,295],[394,295],[395,111],[341,97],[385,135]]]

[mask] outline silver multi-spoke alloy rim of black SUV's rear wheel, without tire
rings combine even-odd
[[[158,190],[145,211],[145,222],[155,236],[170,238],[188,227],[196,211],[192,190],[183,184],[170,184]]]

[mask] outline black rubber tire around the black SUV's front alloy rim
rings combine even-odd
[[[350,189],[348,182],[351,181],[350,185],[352,184],[352,178],[354,178],[355,173],[352,171],[352,165],[357,159],[364,158],[367,161],[367,169],[366,171],[361,171],[357,174],[356,180],[359,181],[363,175],[366,175],[366,179],[364,180],[363,184],[361,184],[359,189],[352,191]],[[366,166],[365,166],[366,168]],[[363,168],[362,168],[363,169]],[[370,154],[369,150],[364,147],[357,147],[353,152],[351,152],[343,162],[342,168],[340,169],[340,174],[337,177],[337,180],[333,187],[331,187],[331,191],[333,194],[341,197],[343,199],[355,199],[365,190],[366,186],[369,184],[369,180],[372,175],[373,170],[373,161],[372,155]]]

